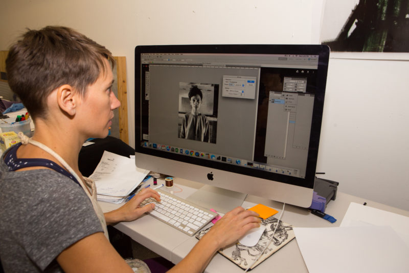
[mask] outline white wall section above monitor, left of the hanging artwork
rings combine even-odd
[[[129,141],[134,146],[134,47],[149,44],[310,44],[319,39],[322,1],[1,1],[0,49],[25,31],[74,28],[127,58]],[[280,4],[279,4],[280,3]],[[313,16],[311,16],[313,14]],[[314,30],[314,31],[312,31]]]

